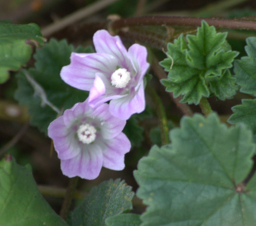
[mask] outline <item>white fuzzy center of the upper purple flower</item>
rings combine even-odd
[[[125,68],[119,68],[111,75],[111,85],[116,88],[124,88],[127,86],[130,79],[130,72]]]

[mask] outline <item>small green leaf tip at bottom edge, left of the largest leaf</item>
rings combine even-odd
[[[106,219],[106,226],[140,226],[140,215],[119,214]]]

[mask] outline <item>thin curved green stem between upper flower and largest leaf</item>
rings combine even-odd
[[[167,125],[167,118],[166,118],[162,100],[159,98],[159,96],[156,94],[156,91],[150,85],[146,86],[146,91],[150,95],[150,98],[152,98],[153,103],[155,104],[156,114],[158,116],[159,123],[160,123],[160,133],[161,133],[162,145],[168,144],[170,142],[169,141],[169,129],[168,129],[168,125]]]

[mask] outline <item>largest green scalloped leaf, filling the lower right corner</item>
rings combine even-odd
[[[228,128],[214,113],[195,114],[170,139],[134,172],[136,195],[148,205],[141,226],[254,225],[256,193],[243,185],[253,165],[252,132],[243,124]]]

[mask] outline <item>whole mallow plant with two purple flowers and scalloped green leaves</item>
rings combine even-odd
[[[0,22],[0,81],[17,81],[14,98],[52,140],[70,178],[57,214],[31,166],[0,152],[0,225],[256,225],[256,38],[246,38],[242,55],[228,42],[229,30],[220,30],[256,30],[255,22],[191,20],[118,19],[94,32],[92,46],[76,48],[46,40],[36,24]],[[166,37],[162,25],[184,28]],[[240,96],[227,117],[212,110],[212,103]],[[173,102],[180,117],[169,114]],[[127,160],[128,152],[139,157]],[[115,177],[71,205],[78,180],[131,162],[136,188]]]

